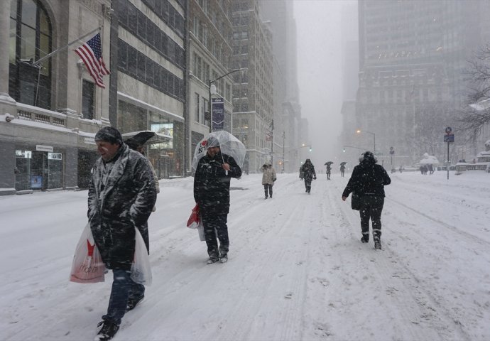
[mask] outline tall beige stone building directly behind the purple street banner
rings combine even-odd
[[[187,129],[190,141],[186,157],[192,160],[195,147],[211,130],[231,132],[232,86],[232,1],[190,0],[188,38],[189,70]],[[229,73],[231,72],[231,73]],[[215,91],[212,91],[215,90]],[[224,122],[211,125],[212,99],[222,99]],[[190,163],[187,163],[187,173]]]

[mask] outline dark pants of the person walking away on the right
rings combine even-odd
[[[373,239],[381,239],[381,212],[383,211],[384,197],[363,195],[360,197],[361,231],[365,239],[369,239],[369,219],[373,224]]]

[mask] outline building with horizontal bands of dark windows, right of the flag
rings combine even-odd
[[[158,178],[186,173],[186,2],[112,1],[109,119],[123,136],[157,134],[146,156]]]

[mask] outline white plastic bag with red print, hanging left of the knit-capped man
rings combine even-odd
[[[104,281],[106,266],[99,249],[95,245],[92,230],[88,223],[83,229],[80,241],[73,256],[70,281],[77,283],[97,283]]]

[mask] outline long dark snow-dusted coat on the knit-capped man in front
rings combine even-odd
[[[102,183],[102,158],[92,169],[87,215],[107,268],[129,270],[134,259],[135,227],[149,250],[147,220],[155,205],[155,182],[145,156],[124,144],[111,163],[114,165],[106,185]]]

